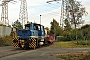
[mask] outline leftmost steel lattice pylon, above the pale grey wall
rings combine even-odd
[[[9,19],[8,19],[8,3],[13,0],[3,0],[2,4],[2,12],[1,12],[1,24],[3,25],[9,25]],[[16,2],[16,1],[14,1]]]

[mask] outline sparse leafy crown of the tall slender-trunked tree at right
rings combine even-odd
[[[71,24],[74,24],[75,28],[77,25],[82,24],[82,16],[87,14],[85,7],[75,0],[69,0],[69,13]]]

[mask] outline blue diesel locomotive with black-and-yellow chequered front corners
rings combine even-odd
[[[12,45],[20,48],[36,48],[48,44],[45,38],[44,26],[37,23],[25,25],[25,29],[18,31],[18,37],[13,39]]]

